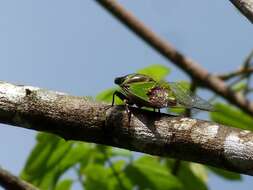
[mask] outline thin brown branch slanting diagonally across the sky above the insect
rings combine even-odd
[[[193,60],[187,58],[169,43],[159,38],[159,36],[134,17],[134,15],[125,10],[115,0],[96,0],[96,2],[102,5],[142,40],[157,50],[165,58],[172,61],[176,66],[180,67],[201,85],[212,89],[232,104],[253,115],[253,103],[250,103],[240,94],[231,91],[221,79],[211,75]]]

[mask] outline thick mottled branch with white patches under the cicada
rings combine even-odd
[[[253,175],[253,132],[0,83],[0,122]]]

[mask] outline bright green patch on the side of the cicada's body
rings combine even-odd
[[[149,101],[147,93],[157,85],[156,82],[136,82],[130,85],[128,92],[142,100]]]

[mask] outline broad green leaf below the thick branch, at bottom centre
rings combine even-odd
[[[180,181],[158,159],[142,156],[125,169],[125,174],[140,189],[181,189]]]

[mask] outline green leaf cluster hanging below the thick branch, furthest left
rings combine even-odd
[[[89,154],[85,143],[66,142],[46,133],[37,135],[37,144],[21,172],[24,180],[41,189],[52,189],[70,167]]]

